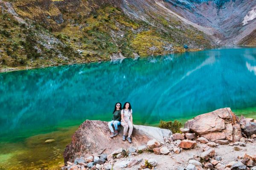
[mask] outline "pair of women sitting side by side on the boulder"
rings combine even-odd
[[[125,102],[124,107],[122,108],[122,110],[120,110],[120,108],[122,108],[121,103],[116,103],[115,105],[115,109],[113,111],[113,117],[111,122],[108,123],[108,127],[111,130],[111,138],[113,138],[114,136],[116,136],[118,134],[117,128],[118,125],[122,125],[122,127],[124,127],[124,133],[122,136],[122,140],[125,141],[125,139],[128,140],[129,143],[131,143],[131,133],[133,130],[133,119],[132,119],[132,109],[131,109],[131,104],[129,102]],[[113,130],[113,126],[115,127],[115,130]],[[129,131],[128,131],[129,129]],[[128,136],[127,136],[127,131],[128,131]],[[127,138],[126,138],[127,136]]]

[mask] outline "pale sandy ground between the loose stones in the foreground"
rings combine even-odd
[[[155,169],[157,170],[177,170],[178,167],[186,167],[188,165],[189,159],[192,159],[194,155],[200,156],[203,152],[203,146],[205,144],[198,144],[195,149],[192,150],[183,150],[179,154],[172,154],[172,155],[156,155],[154,153],[142,153],[137,156],[131,156],[130,158],[119,159],[113,166],[113,170],[137,170],[140,167],[140,164],[135,165],[131,168],[120,168],[119,163],[129,159],[155,159],[157,160],[158,165]],[[234,150],[235,146],[229,145],[218,145],[215,147],[215,156],[221,156],[222,161],[221,164],[226,165],[231,161],[239,161],[237,159],[238,156],[243,156],[244,153],[249,155],[256,154],[256,142],[249,143],[247,142],[246,147],[241,147],[240,151]]]

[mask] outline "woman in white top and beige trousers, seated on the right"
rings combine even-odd
[[[121,111],[121,125],[124,127],[124,134],[122,140],[125,141],[125,137],[128,132],[128,137],[126,138],[129,143],[131,143],[131,133],[133,130],[133,122],[132,122],[132,109],[131,104],[129,102],[125,102],[125,105]]]

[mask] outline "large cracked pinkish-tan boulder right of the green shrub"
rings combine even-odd
[[[230,108],[221,108],[196,116],[185,123],[185,128],[211,141],[226,139],[237,142],[242,137],[239,123]]]

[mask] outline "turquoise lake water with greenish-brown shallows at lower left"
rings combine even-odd
[[[131,102],[141,125],[224,107],[256,118],[256,48],[2,73],[0,96],[0,167],[59,169],[78,126],[109,121],[116,102]]]

